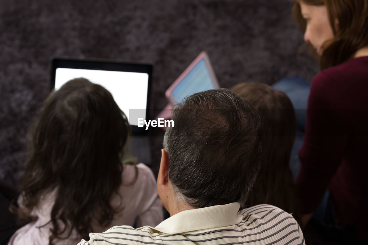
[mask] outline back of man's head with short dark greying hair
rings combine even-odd
[[[261,114],[227,89],[187,97],[164,137],[176,202],[195,208],[240,202],[261,164]]]

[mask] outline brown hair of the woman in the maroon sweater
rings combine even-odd
[[[322,70],[344,63],[353,58],[357,50],[368,45],[368,0],[296,0],[293,16],[305,31],[306,22],[301,15],[300,1],[327,8],[334,37],[322,46],[319,57]]]

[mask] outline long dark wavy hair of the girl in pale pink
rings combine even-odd
[[[40,198],[56,190],[49,244],[73,229],[88,238],[96,221],[109,224],[128,132],[126,116],[102,86],[77,78],[52,92],[31,130],[20,218],[30,218]]]

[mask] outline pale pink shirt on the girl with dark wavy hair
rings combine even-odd
[[[138,170],[137,180],[131,184],[132,180],[134,180],[135,168],[132,165],[124,165],[123,181],[118,189],[118,193],[122,199],[119,196],[115,196],[111,202],[113,207],[123,207],[123,209],[120,209],[120,212],[115,214],[114,219],[106,227],[100,227],[98,224],[94,224],[94,231],[103,232],[117,225],[133,226],[135,220],[137,221],[137,227],[144,225],[156,226],[163,220],[156,178],[153,176],[151,169],[143,163],[139,163],[136,166]],[[54,200],[55,191],[44,196],[42,201],[40,201],[40,207],[32,212],[34,216],[38,217],[38,220],[26,224],[17,230],[10,238],[8,245],[49,244],[49,229],[52,225],[48,224],[42,228],[38,227],[50,221],[50,213]],[[54,239],[53,242],[58,245],[76,244],[80,240],[81,237],[74,230],[68,239]]]

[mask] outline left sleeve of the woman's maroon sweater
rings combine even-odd
[[[342,163],[347,145],[341,82],[333,74],[319,73],[313,80],[308,99],[301,166],[296,188],[301,213],[311,213]]]

